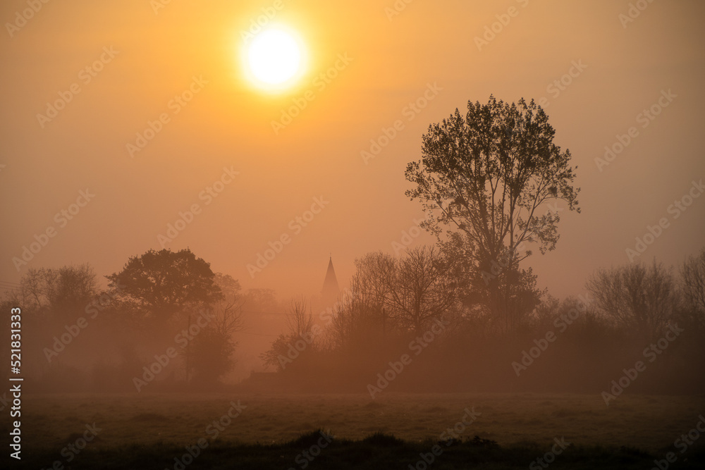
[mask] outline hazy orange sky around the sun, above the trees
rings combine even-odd
[[[404,170],[428,125],[490,94],[544,98],[555,142],[578,166],[582,214],[561,212],[556,250],[528,260],[541,287],[582,292],[594,269],[627,263],[625,249],[661,218],[668,226],[645,261],[675,264],[705,245],[705,197],[669,211],[705,178],[701,1],[637,1],[647,6],[633,6],[635,18],[630,1],[613,0],[415,0],[403,11],[393,0],[164,3],[2,2],[0,280],[83,262],[113,273],[160,249],[167,224],[198,204],[166,247],[190,247],[243,287],[281,297],[319,291],[332,253],[345,285],[355,257],[393,252],[422,216],[405,197]],[[243,68],[243,32],[262,8],[306,44],[303,76],[278,94]],[[24,10],[29,20],[18,19]],[[63,109],[49,118],[57,100]],[[303,109],[275,132],[295,103]],[[652,105],[653,119],[643,114]],[[155,124],[160,116],[166,123]],[[396,137],[364,161],[397,120]],[[161,130],[130,155],[148,121]],[[632,127],[631,142],[598,168]],[[213,197],[223,168],[239,174]],[[314,198],[323,209],[303,226],[296,218]],[[47,229],[54,236],[18,271],[13,257]],[[282,235],[288,245],[252,278],[247,264]],[[432,240],[413,241],[422,242]]]

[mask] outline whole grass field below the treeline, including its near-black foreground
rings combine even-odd
[[[374,401],[369,395],[29,395],[23,457],[37,468],[67,464],[62,450],[95,423],[97,437],[66,468],[173,468],[185,446],[202,439],[209,445],[189,469],[300,469],[296,457],[309,446],[295,441],[306,433],[313,440],[321,429],[334,436],[333,444],[308,468],[407,469],[467,416],[466,409],[479,414],[455,431],[465,442],[443,447],[434,469],[527,468],[551,450],[554,438],[570,446],[553,468],[651,468],[705,414],[705,396],[623,395],[608,407],[599,395],[383,393]],[[350,442],[378,432],[404,442]],[[476,435],[482,440],[473,442]],[[675,451],[677,463],[705,468],[704,443],[705,435],[685,453]],[[357,462],[348,462],[350,455]],[[364,455],[389,462],[367,467]],[[590,463],[591,455],[601,457]],[[98,463],[109,461],[119,463]]]

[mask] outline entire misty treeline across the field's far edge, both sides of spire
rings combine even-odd
[[[705,250],[677,268],[599,270],[580,297],[563,300],[524,278],[503,302],[505,316],[434,248],[371,253],[356,267],[333,306],[314,311],[306,299],[291,302],[287,333],[261,354],[260,364],[277,372],[243,387],[374,397],[705,390]],[[240,292],[237,280],[212,273],[188,250],[147,252],[106,277],[109,287],[99,290],[87,265],[32,269],[4,298],[6,310],[23,309],[23,364],[33,390],[221,388],[239,359],[236,333],[269,324],[243,306],[278,309],[274,291]]]

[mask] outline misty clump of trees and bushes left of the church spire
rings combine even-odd
[[[2,300],[22,309],[32,390],[213,388],[235,366],[243,307],[273,297],[243,294],[188,249],[134,256],[105,277],[100,290],[86,264],[30,268]]]

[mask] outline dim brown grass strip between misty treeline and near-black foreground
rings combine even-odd
[[[30,395],[23,397],[23,434],[61,449],[95,422],[96,449],[131,444],[189,444],[228,412],[231,400],[247,406],[219,440],[282,443],[307,431],[329,429],[359,440],[376,431],[419,442],[462,419],[465,407],[482,413],[463,438],[479,435],[500,445],[554,437],[574,445],[631,446],[658,452],[691,429],[705,412],[705,396],[623,395],[607,407],[599,395],[397,394],[369,395]]]

